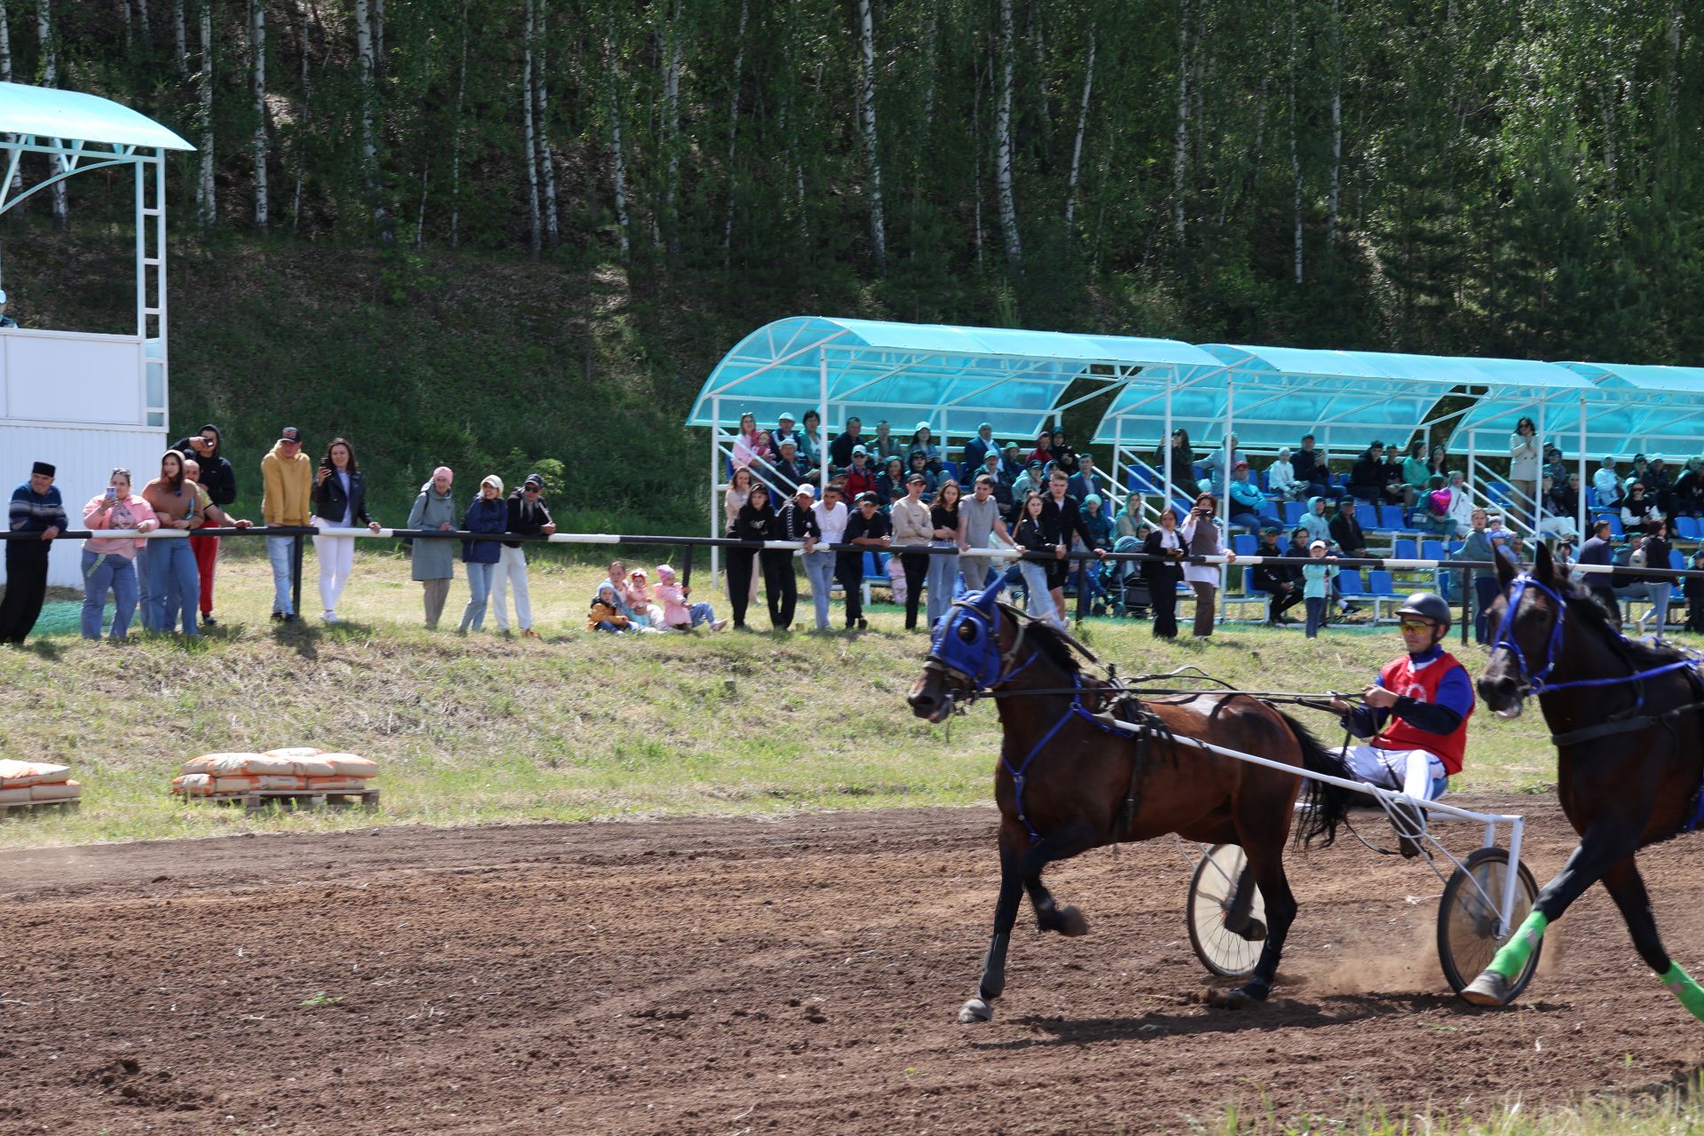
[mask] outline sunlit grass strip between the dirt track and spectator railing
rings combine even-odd
[[[389,823],[612,819],[675,812],[775,812],[971,804],[992,794],[993,710],[946,726],[903,697],[924,637],[878,606],[847,635],[593,635],[583,611],[602,574],[533,567],[542,640],[421,625],[407,560],[363,550],[344,623],[271,623],[257,548],[220,562],[220,623],[203,642],[34,639],[0,651],[0,751],[73,766],[73,818],[0,824],[0,845],[193,836],[250,828],[368,824],[360,812],[244,819],[167,795],[176,766],[208,751],[314,744],[383,765]],[[317,611],[307,560],[303,606]],[[457,582],[445,611],[465,603]],[[726,615],[726,598],[719,598]],[[838,601],[837,601],[838,617]],[[809,617],[809,601],[801,608]],[[801,627],[804,625],[801,622]],[[767,613],[753,613],[753,625]],[[1399,649],[1394,628],[1230,625],[1212,640],[1159,642],[1140,622],[1091,620],[1084,639],[1126,674],[1200,666],[1246,690],[1358,690]],[[1471,669],[1477,647],[1464,652]],[[1315,720],[1338,741],[1329,715]],[[1476,715],[1457,790],[1542,790],[1552,753],[1537,715]]]

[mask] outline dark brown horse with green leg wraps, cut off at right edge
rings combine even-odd
[[[1704,691],[1695,659],[1622,639],[1609,613],[1556,571],[1539,545],[1530,576],[1498,560],[1503,594],[1489,610],[1496,637],[1479,697],[1517,717],[1527,695],[1556,743],[1556,792],[1580,843],[1539,892],[1532,915],[1462,991],[1505,1005],[1544,928],[1597,881],[1621,908],[1646,966],[1694,1017],[1701,990],[1663,950],[1634,853],[1697,824],[1704,777]]]

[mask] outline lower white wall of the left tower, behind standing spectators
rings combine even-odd
[[[58,467],[53,479],[65,497],[65,514],[72,528],[83,526],[83,504],[106,489],[112,467],[130,470],[135,491],[158,477],[160,455],[170,439],[158,427],[112,427],[77,424],[20,424],[0,421],[0,492],[7,499],[12,491],[29,482],[34,462]],[[48,557],[48,582],[55,588],[83,586],[80,540],[56,540]],[[0,559],[0,579],[5,564]]]

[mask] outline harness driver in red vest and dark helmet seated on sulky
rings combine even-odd
[[[1450,632],[1450,605],[1443,596],[1421,591],[1396,611],[1406,654],[1379,671],[1361,691],[1363,705],[1333,698],[1331,709],[1344,729],[1368,739],[1346,746],[1343,763],[1350,777],[1382,789],[1397,789],[1418,800],[1443,795],[1448,778],[1462,772],[1467,719],[1474,712],[1474,688],[1467,668],[1443,649]],[[1404,855],[1414,855],[1404,841]]]

